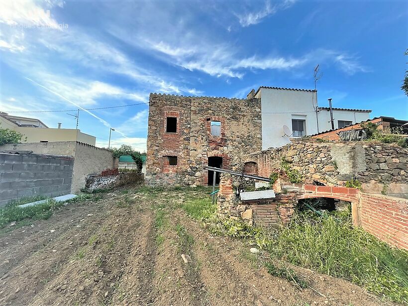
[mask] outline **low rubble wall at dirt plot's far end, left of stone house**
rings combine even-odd
[[[85,188],[88,189],[89,191],[93,191],[96,189],[111,189],[143,181],[144,181],[143,173],[90,176],[87,178],[87,184],[85,185]]]

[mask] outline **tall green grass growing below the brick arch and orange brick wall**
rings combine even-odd
[[[344,218],[339,222],[331,215],[310,218],[298,214],[268,249],[275,258],[408,303],[408,253],[390,248]]]

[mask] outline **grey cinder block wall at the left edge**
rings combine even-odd
[[[0,206],[22,197],[69,194],[73,167],[72,157],[0,153]]]

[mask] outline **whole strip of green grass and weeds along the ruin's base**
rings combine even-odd
[[[321,217],[297,212],[290,226],[269,229],[220,219],[209,197],[191,197],[182,208],[215,234],[256,244],[271,254],[272,261],[344,278],[379,296],[408,303],[408,252],[391,248],[362,228],[353,227],[349,211]]]

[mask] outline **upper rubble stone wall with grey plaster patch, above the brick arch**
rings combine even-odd
[[[302,183],[344,185],[351,179],[363,184],[369,193],[408,197],[408,149],[375,142],[320,143],[294,141],[281,148],[269,149],[248,156],[244,162],[258,164],[260,176],[280,173],[281,182],[289,182],[281,170],[285,159],[299,171]]]

